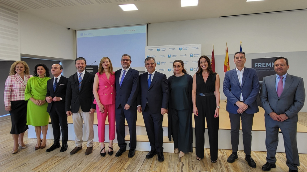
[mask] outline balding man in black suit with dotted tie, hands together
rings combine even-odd
[[[61,147],[60,131],[62,131],[62,148],[60,149],[60,152],[67,150],[68,126],[65,111],[65,94],[68,79],[61,75],[62,71],[62,65],[53,64],[51,66],[51,73],[54,77],[47,81],[47,112],[49,113],[51,119],[54,142],[49,149],[46,149],[46,152],[51,152],[54,149]]]

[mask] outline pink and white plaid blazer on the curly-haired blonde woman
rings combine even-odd
[[[4,106],[11,106],[11,101],[24,100],[24,90],[31,77],[32,75],[26,75],[23,81],[17,73],[7,76],[4,85]]]

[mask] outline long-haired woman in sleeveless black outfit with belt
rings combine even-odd
[[[220,78],[212,71],[210,59],[198,59],[198,70],[193,76],[193,113],[195,119],[196,159],[204,158],[205,118],[207,119],[211,162],[218,160],[218,115]]]

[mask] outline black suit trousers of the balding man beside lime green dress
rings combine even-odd
[[[67,115],[65,111],[58,111],[56,106],[52,106],[50,110],[50,119],[53,130],[54,144],[60,144],[60,137],[62,132],[62,145],[67,144],[68,140],[68,126]],[[61,129],[60,129],[61,126]]]

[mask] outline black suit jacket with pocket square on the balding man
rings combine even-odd
[[[58,85],[55,88],[55,92],[53,91],[53,81],[54,77],[51,80],[47,81],[46,97],[49,96],[51,96],[52,98],[61,97],[63,100],[52,101],[51,103],[48,103],[47,112],[50,113],[53,105],[57,107],[58,111],[65,112],[65,96],[66,96],[68,79],[62,75],[61,78],[58,80]]]

